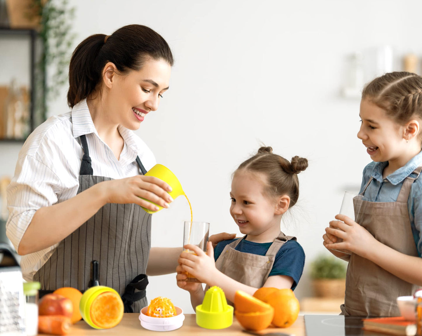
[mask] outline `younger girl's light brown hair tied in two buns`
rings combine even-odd
[[[258,152],[240,164],[238,169],[260,172],[268,177],[268,185],[264,189],[270,197],[288,195],[289,208],[295,205],[299,198],[298,174],[308,167],[308,160],[299,156],[292,157],[292,161],[274,154],[273,148],[261,147]]]

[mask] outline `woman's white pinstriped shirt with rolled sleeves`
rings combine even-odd
[[[98,136],[84,99],[71,112],[49,118],[30,134],[19,152],[15,175],[7,189],[6,234],[16,250],[35,211],[76,196],[84,155],[80,135],[86,134],[94,175],[114,179],[138,175],[137,155],[146,170],[154,166],[154,154],[145,142],[123,126],[118,129],[124,140],[119,160]],[[22,256],[25,280],[32,281],[58,245]]]

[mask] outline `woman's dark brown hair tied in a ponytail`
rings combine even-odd
[[[160,34],[140,24],[130,24],[113,34],[95,34],[83,40],[73,51],[69,65],[68,105],[73,108],[97,88],[107,62],[121,74],[140,70],[148,57],[173,65],[173,55]]]

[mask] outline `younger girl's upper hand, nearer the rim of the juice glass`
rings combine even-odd
[[[182,252],[179,257],[179,264],[182,271],[187,271],[200,282],[209,283],[213,274],[217,271],[214,262],[214,248],[212,243],[207,243],[207,253],[195,245],[185,245],[185,249],[194,253]]]

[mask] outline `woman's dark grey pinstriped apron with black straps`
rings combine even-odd
[[[96,183],[112,180],[93,175],[85,135],[80,139],[84,156],[78,194]],[[145,174],[139,157],[136,162]],[[140,312],[148,305],[145,272],[150,248],[151,215],[137,204],[108,203],[60,242],[33,280],[41,283],[40,295],[61,287],[83,292],[88,289],[90,264],[97,260],[100,285],[120,294],[125,312]]]

